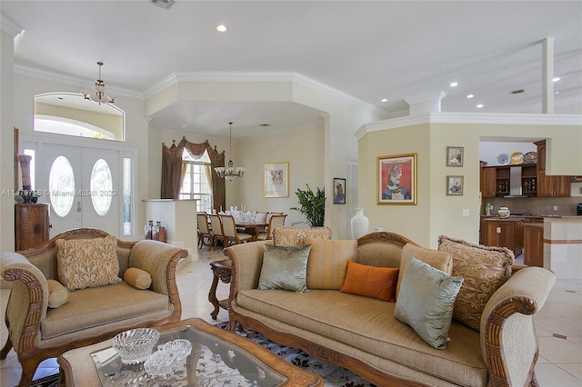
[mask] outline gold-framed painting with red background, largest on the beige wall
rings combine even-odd
[[[378,156],[378,204],[416,204],[416,154]]]

